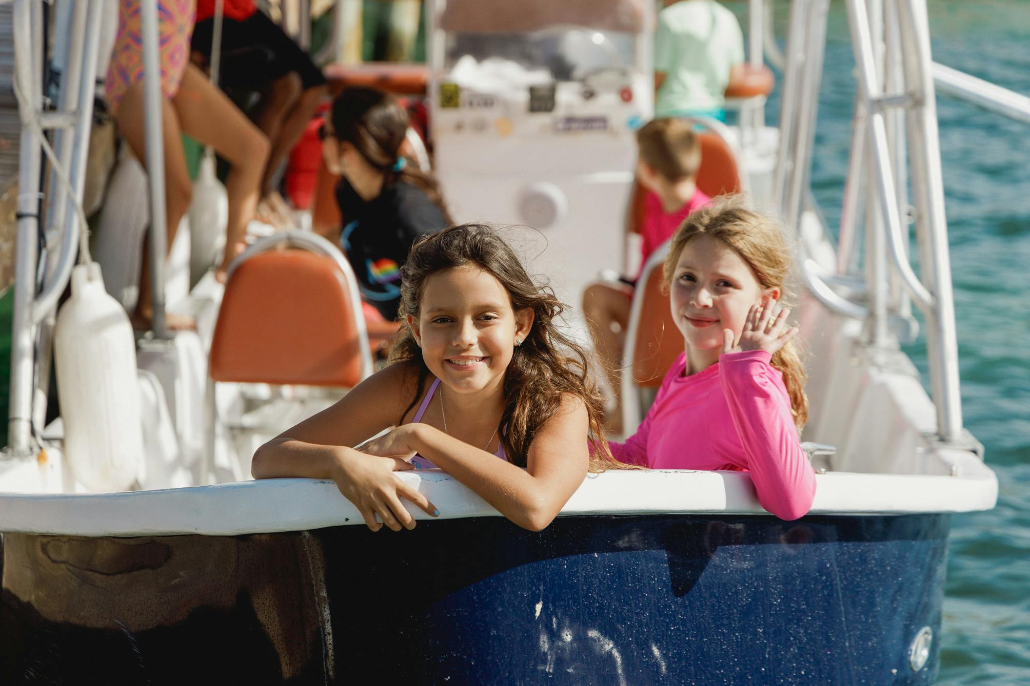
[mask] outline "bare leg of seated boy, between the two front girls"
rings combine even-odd
[[[594,349],[608,374],[616,407],[621,407],[622,351],[625,349],[631,292],[627,287],[593,284],[583,293],[583,315],[590,325]],[[622,413],[606,417],[613,434],[622,433]]]

